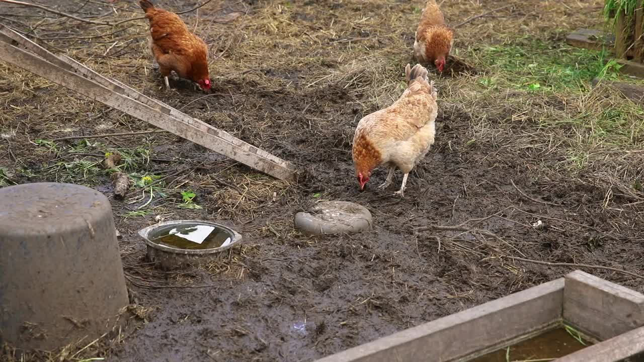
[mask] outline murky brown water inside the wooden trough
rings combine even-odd
[[[509,352],[502,348],[468,362],[550,361],[592,344],[582,338],[584,345],[575,337],[564,327],[558,327],[510,346]]]

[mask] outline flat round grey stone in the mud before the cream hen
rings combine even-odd
[[[294,224],[305,234],[354,234],[371,228],[366,207],[346,201],[324,201],[310,213],[295,214]]]

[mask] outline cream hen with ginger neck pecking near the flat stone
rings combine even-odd
[[[434,143],[437,92],[421,64],[405,68],[407,89],[384,110],[366,115],[355,129],[353,158],[360,189],[365,187],[375,167],[386,165],[389,173],[380,187],[392,183],[393,171],[403,171],[403,184],[395,195],[404,196],[407,177],[416,162]]]

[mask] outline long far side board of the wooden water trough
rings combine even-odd
[[[454,361],[562,318],[564,278],[350,348],[316,362]]]

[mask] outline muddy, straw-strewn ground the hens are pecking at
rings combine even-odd
[[[102,15],[92,19],[138,16],[131,1],[59,3],[62,12]],[[195,6],[156,3],[175,11]],[[455,0],[442,8],[457,24],[506,3],[514,2]],[[574,269],[644,292],[642,279],[574,265],[644,267],[641,113],[622,114],[619,127],[633,131],[616,142],[592,125],[555,122],[629,102],[611,90],[481,86],[500,72],[480,56],[484,48],[528,38],[565,47],[565,33],[601,24],[601,1],[517,2],[460,26],[455,55],[462,64],[431,75],[439,86],[436,144],[410,175],[405,198],[393,196],[400,173],[390,189],[375,187],[383,169],[359,190],[353,131],[403,90],[419,8],[421,1],[404,0],[214,0],[182,14],[210,45],[214,89],[204,97],[176,80],[176,90],[160,89],[140,20],[106,35],[109,26],[70,26],[52,14],[37,24],[39,10],[0,6],[1,23],[303,169],[297,182],[279,182],[169,133],[44,142],[152,128],[0,63],[0,180],[75,182],[108,195],[129,288],[145,308],[143,321],[75,358],[313,361]],[[129,155],[124,169],[133,182],[173,176],[152,198],[135,186],[117,200],[97,165],[106,152]],[[182,205],[187,190],[202,209]],[[373,230],[321,237],[294,231],[294,213],[318,200],[365,205]],[[137,230],[184,218],[234,227],[243,246],[208,269],[156,271]],[[533,227],[539,221],[543,226]],[[439,227],[414,233],[433,225]]]

